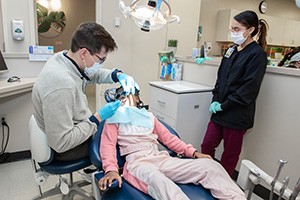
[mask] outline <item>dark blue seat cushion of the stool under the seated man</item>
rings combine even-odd
[[[90,166],[91,160],[89,157],[85,157],[82,159],[74,160],[74,161],[57,161],[52,160],[51,163],[42,164],[40,163],[40,167],[49,174],[68,174],[85,167]]]

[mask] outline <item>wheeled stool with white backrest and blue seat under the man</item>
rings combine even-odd
[[[54,152],[47,144],[46,134],[38,127],[33,115],[29,120],[29,134],[31,161],[39,189],[39,195],[34,197],[33,200],[44,199],[57,194],[63,194],[63,200],[73,199],[74,195],[80,195],[84,199],[95,199],[81,188],[89,185],[88,181],[73,181],[73,172],[91,165],[89,157],[75,161],[54,160]],[[63,174],[69,174],[69,181],[61,176]],[[41,185],[46,182],[49,175],[58,175],[59,183],[53,189],[42,192]]]

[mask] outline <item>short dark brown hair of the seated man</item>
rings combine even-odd
[[[87,48],[91,54],[99,53],[105,48],[106,52],[112,52],[117,48],[113,37],[103,26],[95,22],[80,24],[72,36],[71,51],[76,52],[80,48]]]

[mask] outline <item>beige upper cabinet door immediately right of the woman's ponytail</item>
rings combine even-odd
[[[283,45],[285,19],[268,15],[265,15],[263,18],[269,25],[267,43],[273,45]]]

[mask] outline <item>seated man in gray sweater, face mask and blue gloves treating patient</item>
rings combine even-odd
[[[103,62],[117,45],[101,25],[86,22],[72,36],[71,48],[54,54],[37,77],[32,91],[34,116],[47,135],[57,160],[88,156],[89,138],[99,122],[120,106],[108,103],[92,114],[88,107],[87,84],[119,82],[127,93],[138,85],[118,69],[105,69]]]

